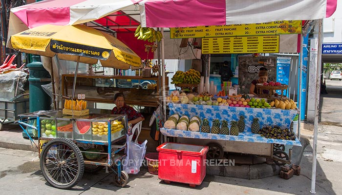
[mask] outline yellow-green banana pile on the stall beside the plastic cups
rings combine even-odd
[[[177,71],[171,80],[171,83],[176,85],[181,83],[198,84],[201,80],[201,74],[194,69],[190,69],[187,72]]]

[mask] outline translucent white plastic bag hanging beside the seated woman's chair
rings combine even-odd
[[[125,162],[123,162],[123,170],[128,174],[138,174],[146,154],[147,140],[142,144],[137,144],[133,141],[129,141],[127,136],[126,144],[127,156]]]

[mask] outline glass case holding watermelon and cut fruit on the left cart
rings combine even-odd
[[[125,136],[128,131],[126,115],[89,114],[73,117],[56,110],[44,113],[39,120],[40,137],[43,138],[63,137],[108,143]]]

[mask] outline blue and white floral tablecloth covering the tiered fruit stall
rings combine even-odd
[[[169,103],[170,116],[179,114],[186,115],[189,118],[198,116],[202,120],[208,118],[210,125],[213,119],[227,120],[230,123],[232,120],[237,121],[240,115],[245,117],[245,132],[239,133],[239,136],[227,136],[219,134],[207,134],[201,132],[181,131],[175,129],[161,128],[160,131],[165,136],[170,137],[187,137],[198,139],[217,139],[217,140],[232,140],[245,142],[259,143],[277,143],[284,145],[301,146],[298,138],[295,141],[282,139],[269,139],[261,137],[259,134],[251,132],[253,118],[259,118],[260,128],[264,126],[279,126],[280,128],[290,128],[293,118],[297,115],[297,110],[281,110],[271,108],[243,108],[230,106],[208,106],[194,104],[173,104]],[[229,125],[230,128],[230,125]],[[296,132],[295,132],[296,133]]]

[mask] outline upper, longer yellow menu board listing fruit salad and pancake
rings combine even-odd
[[[171,39],[300,34],[301,20],[170,28]]]

